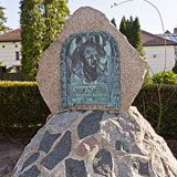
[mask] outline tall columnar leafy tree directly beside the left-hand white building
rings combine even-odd
[[[42,0],[21,0],[20,3],[22,72],[28,74],[28,80],[34,80],[39,59],[43,52],[44,20],[41,11]]]

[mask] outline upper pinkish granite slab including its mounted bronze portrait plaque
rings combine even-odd
[[[52,114],[69,110],[128,111],[146,66],[106,17],[87,7],[74,12],[42,54],[37,80]]]

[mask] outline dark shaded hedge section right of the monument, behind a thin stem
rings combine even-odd
[[[147,85],[142,88],[133,105],[158,134],[177,139],[177,85],[162,85],[158,92],[159,86]],[[160,105],[162,116],[159,117]]]

